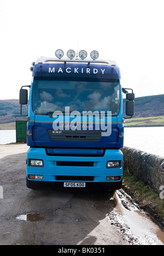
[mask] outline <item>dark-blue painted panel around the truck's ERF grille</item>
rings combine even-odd
[[[35,125],[34,125],[35,124]],[[124,127],[122,124],[112,124],[112,133],[110,136],[103,136],[100,141],[96,142],[76,142],[70,141],[52,141],[49,136],[48,129],[52,128],[52,123],[28,122],[27,145],[35,147],[63,147],[63,148],[122,148]]]

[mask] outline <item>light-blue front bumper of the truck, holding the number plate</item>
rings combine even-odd
[[[29,159],[42,159],[44,166],[29,166]],[[107,168],[108,161],[120,161],[121,166],[119,168]],[[57,165],[58,162],[66,162],[66,165]],[[34,184],[36,187],[40,187],[40,185],[43,187],[44,185],[63,187],[63,182],[67,181],[66,177],[71,176],[75,179],[68,179],[69,182],[85,182],[86,189],[97,189],[98,187],[108,190],[120,189],[123,172],[122,162],[123,155],[119,149],[106,149],[103,156],[53,156],[47,155],[45,148],[30,148],[27,152],[27,187],[32,188]],[[69,165],[69,163],[76,164]],[[86,166],[86,163],[92,163],[92,165]],[[30,174],[43,175],[43,179],[32,180],[29,178]],[[120,176],[120,179],[107,181],[107,176]],[[77,177],[80,177],[79,180]]]

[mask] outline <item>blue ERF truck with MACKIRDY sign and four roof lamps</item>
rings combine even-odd
[[[118,65],[99,60],[97,51],[90,58],[85,50],[79,56],[68,50],[64,57],[58,49],[55,55],[33,62],[31,85],[20,89],[21,114],[28,106],[26,185],[120,189],[120,148],[124,120],[134,114],[133,90],[121,88]]]

